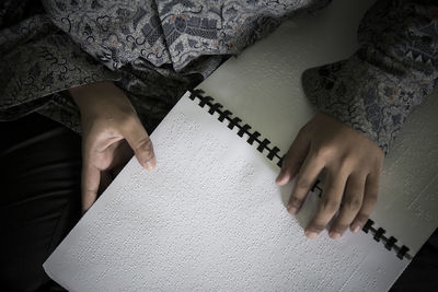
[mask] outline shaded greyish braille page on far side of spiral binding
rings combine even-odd
[[[374,0],[334,0],[318,15],[281,24],[198,87],[286,153],[314,115],[302,72],[346,59],[358,48],[357,28]],[[438,226],[438,90],[416,107],[384,160],[371,214],[388,236],[415,255]]]

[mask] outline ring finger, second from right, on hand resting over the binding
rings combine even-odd
[[[348,177],[339,215],[333,222],[328,233],[333,240],[339,238],[345,233],[359,212],[364,200],[365,180],[366,176],[359,174],[350,174]]]

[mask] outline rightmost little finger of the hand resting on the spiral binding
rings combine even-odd
[[[359,232],[360,229],[364,227],[369,215],[371,214],[372,209],[374,208],[379,192],[379,173],[372,173],[367,176],[367,180],[365,183],[364,202],[350,225],[350,230],[353,232]]]

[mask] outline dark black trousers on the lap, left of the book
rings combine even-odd
[[[42,267],[80,218],[80,137],[37,114],[0,122],[2,285],[49,290]]]

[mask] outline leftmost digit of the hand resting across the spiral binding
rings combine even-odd
[[[300,130],[286,153],[281,171],[275,179],[277,185],[284,186],[293,179],[309,152],[310,140],[303,130]]]

